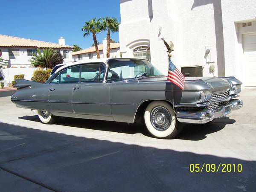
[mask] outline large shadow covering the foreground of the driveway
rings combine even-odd
[[[253,148],[247,149],[251,160],[244,160],[218,151],[179,151],[179,145],[173,150],[172,140],[164,148],[157,142],[125,142],[0,122],[1,191],[255,191]],[[195,163],[202,172],[195,172]],[[242,170],[221,172],[221,166],[208,172],[204,163],[241,164]]]

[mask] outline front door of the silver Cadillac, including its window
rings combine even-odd
[[[104,83],[105,64],[81,65],[81,79],[73,90],[73,110],[76,114],[111,116],[109,85]]]

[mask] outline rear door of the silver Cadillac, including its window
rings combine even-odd
[[[52,80],[49,89],[49,105],[51,111],[73,113],[72,94],[79,82],[80,66],[73,66],[62,70]]]

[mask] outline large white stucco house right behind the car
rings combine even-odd
[[[236,76],[256,86],[255,10],[255,0],[120,0],[120,52],[167,75],[165,39],[187,76]]]

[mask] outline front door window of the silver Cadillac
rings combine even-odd
[[[86,64],[81,66],[81,82],[99,82],[104,76],[104,65]]]

